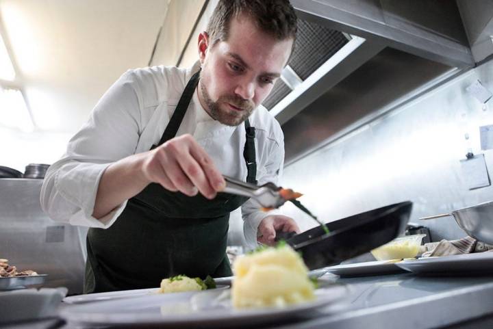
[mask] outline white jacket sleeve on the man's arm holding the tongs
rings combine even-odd
[[[128,71],[105,92],[88,122],[68,142],[62,159],[50,166],[40,202],[51,219],[108,228],[125,208],[126,201],[99,220],[92,217],[103,172],[136,151],[142,100],[132,77]]]

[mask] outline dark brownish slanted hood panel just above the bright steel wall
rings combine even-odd
[[[286,163],[448,70],[395,49],[380,51],[283,124]]]

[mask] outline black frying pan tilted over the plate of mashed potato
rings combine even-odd
[[[369,252],[404,232],[412,202],[405,201],[326,223],[286,240],[301,256],[309,269],[336,265],[346,259]]]

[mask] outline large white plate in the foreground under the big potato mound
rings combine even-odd
[[[253,326],[293,317],[305,317],[309,311],[315,311],[329,304],[337,308],[349,295],[346,286],[333,285],[317,289],[316,300],[313,302],[303,302],[283,308],[236,310],[231,306],[230,291],[227,289],[148,295],[107,302],[68,305],[62,309],[60,315],[72,323],[86,325],[159,324],[160,328],[198,325],[201,328]]]

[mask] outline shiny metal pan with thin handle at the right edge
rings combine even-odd
[[[457,225],[471,237],[486,244],[493,244],[493,201],[483,202],[479,205],[452,211],[451,213],[441,213],[440,215],[420,218],[420,220],[448,216],[455,218]]]

